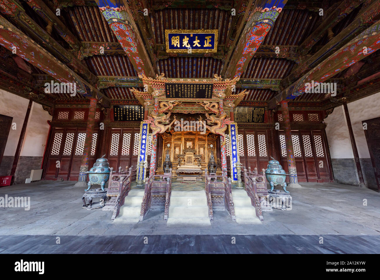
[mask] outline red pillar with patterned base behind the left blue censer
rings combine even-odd
[[[89,155],[91,153],[92,134],[95,126],[95,111],[97,100],[90,99],[89,116],[87,118],[86,139],[84,140],[84,149],[81,161],[81,169],[79,171],[78,183],[75,186],[87,186],[87,172],[89,170]]]

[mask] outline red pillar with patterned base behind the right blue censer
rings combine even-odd
[[[290,117],[289,117],[288,102],[285,100],[281,101],[281,113],[282,113],[282,119],[284,122],[285,143],[286,143],[286,151],[287,151],[287,157],[288,157],[288,170],[289,170],[288,172],[290,174],[290,176],[289,176],[289,181],[290,181],[289,187],[290,188],[301,188],[301,186],[298,184],[296,162],[294,159],[293,141],[291,139],[291,128],[290,128]]]

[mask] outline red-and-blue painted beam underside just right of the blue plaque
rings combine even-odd
[[[287,0],[257,0],[248,22],[237,40],[224,77],[240,77],[247,68],[253,55],[263,43],[266,34],[274,25]]]

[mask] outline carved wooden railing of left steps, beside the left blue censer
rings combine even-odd
[[[111,167],[107,190],[107,197],[109,197],[109,199],[105,207],[103,207],[103,210],[113,211],[111,220],[115,220],[117,215],[119,215],[120,207],[124,204],[125,197],[128,196],[128,192],[131,189],[132,167],[133,166],[129,168],[129,171],[123,171],[121,167],[119,167],[119,173],[114,173],[116,171],[113,171]]]

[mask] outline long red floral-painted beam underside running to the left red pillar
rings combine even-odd
[[[97,99],[103,107],[109,106],[109,99],[78,74],[60,62],[43,47],[0,16],[0,45],[12,51],[16,47],[17,56],[43,70],[63,83],[76,83],[77,94]],[[52,94],[54,96],[54,94]]]

